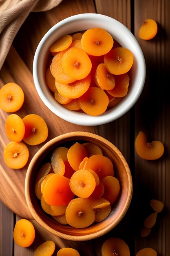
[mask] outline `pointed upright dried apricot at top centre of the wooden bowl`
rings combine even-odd
[[[87,150],[82,146],[82,144],[75,142],[67,153],[68,162],[73,168],[73,170],[79,170],[79,164],[82,162],[84,157],[88,157]]]

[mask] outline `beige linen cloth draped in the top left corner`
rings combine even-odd
[[[31,11],[47,11],[62,0],[0,0],[0,69],[11,44]]]

